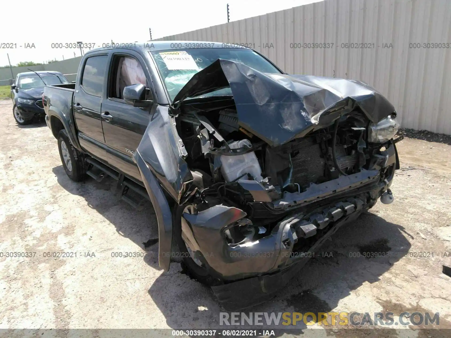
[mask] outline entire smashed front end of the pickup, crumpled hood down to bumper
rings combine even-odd
[[[225,87],[233,96],[202,96]],[[190,173],[175,227],[223,305],[237,285],[275,292],[342,224],[393,201],[396,112],[362,82],[218,59],[174,102]]]

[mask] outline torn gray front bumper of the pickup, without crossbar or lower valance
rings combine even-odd
[[[373,190],[376,186],[370,187]],[[232,282],[256,275],[271,274],[304,260],[314,241],[334,228],[342,219],[368,209],[363,193],[313,204],[308,209],[289,213],[271,233],[239,245],[230,245],[223,229],[245,219],[246,213],[223,204],[197,214],[183,214],[182,231],[192,251],[200,251],[213,276]],[[327,203],[324,205],[324,203]],[[185,223],[186,222],[186,223]]]

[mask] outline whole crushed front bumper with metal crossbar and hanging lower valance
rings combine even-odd
[[[371,161],[368,170],[267,202],[285,218],[269,234],[241,245],[230,245],[224,229],[246,220],[243,210],[219,204],[184,213],[184,240],[195,255],[198,252],[210,274],[224,282],[213,287],[224,306],[252,306],[285,285],[325,238],[371,207],[390,187],[398,165],[396,146],[391,144]],[[239,288],[253,292],[237,292]]]

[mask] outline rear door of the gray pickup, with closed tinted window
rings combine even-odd
[[[93,54],[84,60],[80,83],[74,93],[74,117],[80,145],[91,155],[105,160],[105,139],[101,104],[106,83],[108,54]]]

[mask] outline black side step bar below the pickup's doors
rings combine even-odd
[[[101,180],[105,178],[105,174],[117,180],[117,187],[121,187],[121,199],[129,203],[133,208],[142,210],[143,201],[150,201],[146,188],[133,182],[131,179],[126,178],[124,174],[116,172],[114,169],[107,167],[105,164],[92,157],[88,157],[86,162],[92,164],[92,168],[87,170],[86,174],[94,178],[97,182],[101,182]]]

